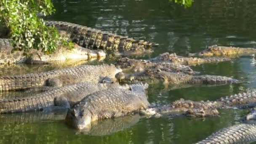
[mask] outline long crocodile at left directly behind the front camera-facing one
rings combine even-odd
[[[2,99],[0,100],[0,113],[15,113],[27,111],[40,111],[49,108],[69,108],[85,96],[96,91],[108,88],[128,89],[127,85],[120,86],[116,83],[77,83],[63,87],[52,88],[49,91],[35,94],[34,96]]]

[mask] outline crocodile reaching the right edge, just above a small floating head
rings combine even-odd
[[[231,96],[221,97],[215,101],[191,101],[191,100],[176,100],[172,102],[174,108],[197,108],[197,109],[212,109],[212,108],[247,108],[256,106],[256,91],[248,90],[245,93],[233,94]]]

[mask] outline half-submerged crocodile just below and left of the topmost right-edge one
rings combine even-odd
[[[162,53],[159,56],[149,59],[152,62],[161,62],[161,61],[170,61],[173,64],[182,64],[182,65],[189,65],[195,66],[205,63],[217,63],[220,61],[230,61],[229,58],[192,58],[192,57],[184,57],[184,56],[177,56],[176,53]]]

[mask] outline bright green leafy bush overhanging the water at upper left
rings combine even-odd
[[[34,48],[51,53],[60,45],[69,45],[57,29],[47,27],[36,15],[54,11],[51,0],[0,0],[0,19],[11,31],[11,44],[25,52]]]

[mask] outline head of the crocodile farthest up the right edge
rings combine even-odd
[[[203,51],[197,52],[197,53],[189,53],[188,56],[199,56],[199,57],[211,57],[211,56],[223,56],[223,55],[229,55],[229,54],[235,54],[236,51],[232,49],[231,47],[222,47],[218,45],[211,45],[208,46]]]

